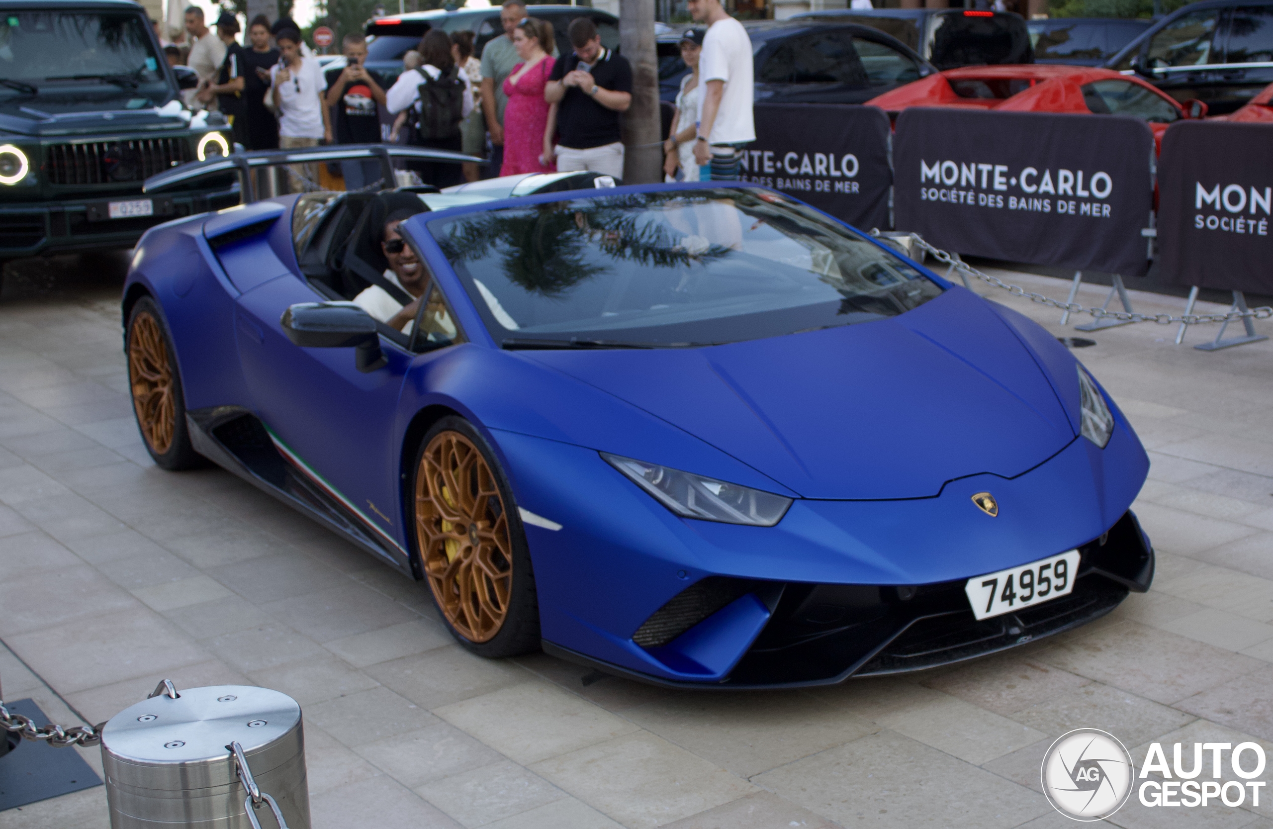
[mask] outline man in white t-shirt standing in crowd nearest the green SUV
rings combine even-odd
[[[270,94],[279,113],[279,146],[317,146],[323,139],[332,141],[331,124],[323,92],[327,79],[317,57],[300,55],[300,33],[284,29],[275,38],[283,59],[270,67]],[[294,176],[317,182],[314,164],[290,164]],[[304,180],[293,178],[292,190],[304,190]]]

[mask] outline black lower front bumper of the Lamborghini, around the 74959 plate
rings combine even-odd
[[[1080,548],[1073,591],[1029,609],[978,621],[966,579],[919,586],[808,585],[709,578],[647,620],[635,637],[658,662],[685,672],[710,667],[737,641],[763,628],[723,679],[681,681],[606,663],[552,642],[547,653],[670,688],[717,690],[833,685],[854,676],[901,674],[961,662],[1077,628],[1114,610],[1153,581],[1148,537],[1128,511],[1100,539]],[[768,610],[768,613],[766,613]],[[733,628],[735,630],[731,630]],[[729,658],[729,657],[726,657]]]

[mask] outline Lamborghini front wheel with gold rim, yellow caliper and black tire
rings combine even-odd
[[[410,480],[416,554],[451,635],[489,658],[538,651],[540,606],[531,554],[512,488],[490,444],[463,418],[443,418],[420,442]],[[448,480],[460,498],[448,494]],[[498,504],[491,498],[496,493]],[[463,518],[468,530],[447,516]]]

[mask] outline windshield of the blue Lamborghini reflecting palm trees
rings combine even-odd
[[[941,293],[756,188],[519,205],[429,229],[504,348],[735,343],[892,317]]]

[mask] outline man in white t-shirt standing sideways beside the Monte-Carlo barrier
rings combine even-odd
[[[742,148],[756,140],[751,116],[752,55],[747,31],[721,6],[721,0],[689,0],[690,14],[708,24],[699,56],[699,135],[694,159],[712,163],[713,181],[738,178]]]

